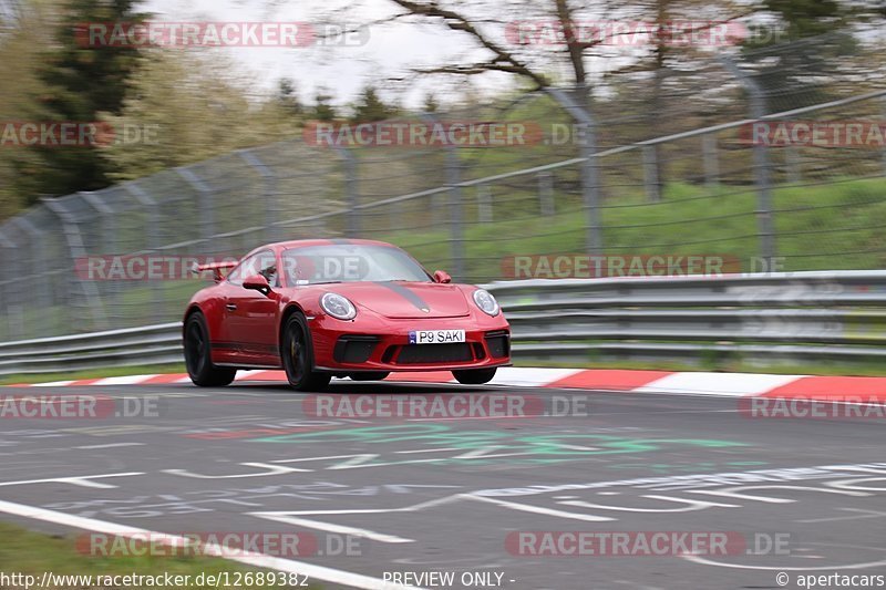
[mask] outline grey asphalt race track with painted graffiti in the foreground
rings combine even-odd
[[[446,588],[508,589],[797,588],[800,575],[886,573],[883,421],[753,420],[734,398],[699,395],[330,389],[466,391],[583,401],[587,415],[318,417],[306,415],[305,394],[267,383],[8,387],[126,398],[117,407],[138,415],[0,420],[0,518],[47,531],[298,531],[316,550],[281,559],[323,588],[384,588],[385,572],[455,572]],[[146,401],[157,411],[142,412]],[[526,531],[727,531],[746,547],[533,556],[514,541]],[[502,578],[465,586],[464,572]]]

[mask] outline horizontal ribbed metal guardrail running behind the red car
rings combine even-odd
[[[886,358],[886,271],[815,271],[485,286],[518,360]],[[181,323],[0,343],[0,375],[182,361]]]

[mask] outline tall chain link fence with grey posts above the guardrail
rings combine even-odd
[[[882,268],[882,138],[777,134],[782,125],[791,139],[812,123],[886,131],[884,69],[877,48],[827,35],[594,92],[404,117],[504,122],[529,141],[351,147],[301,137],[45,199],[0,225],[0,341],[175,321],[205,286],[179,275],[99,280],[91,262],[239,257],[284,239],[381,239],[466,282],[511,278],[515,256],[583,252],[721,253],[742,270],[761,270],[752,259]]]

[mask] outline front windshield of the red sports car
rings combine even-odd
[[[406,252],[393,246],[329,245],[286,250],[282,263],[290,287],[330,282],[432,282]]]

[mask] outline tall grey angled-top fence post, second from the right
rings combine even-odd
[[[602,224],[600,221],[600,183],[597,169],[597,135],[596,125],[588,108],[576,104],[567,93],[559,89],[545,89],[560,106],[577,122],[578,139],[581,157],[581,193],[586,216],[586,249],[590,255],[602,255]],[[585,96],[585,87],[579,86],[577,94]]]

